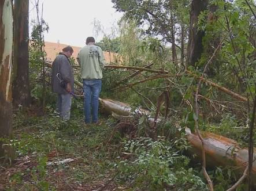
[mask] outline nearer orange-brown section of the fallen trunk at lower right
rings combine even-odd
[[[238,142],[227,137],[216,135],[210,132],[201,132],[203,143],[205,144],[207,165],[232,166],[234,170],[243,173],[248,165],[248,148],[240,148]],[[186,129],[186,137],[191,144],[190,152],[201,156],[201,140],[199,137]],[[254,158],[256,159],[256,148],[254,148]],[[256,184],[256,161],[253,163],[253,174]]]

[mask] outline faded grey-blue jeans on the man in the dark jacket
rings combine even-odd
[[[71,117],[71,94],[58,94],[56,111],[60,113],[61,119],[69,120]]]

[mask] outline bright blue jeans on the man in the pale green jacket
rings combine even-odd
[[[98,122],[99,93],[101,92],[101,79],[83,79],[84,87],[84,115],[86,123]],[[92,109],[92,113],[91,113]]]

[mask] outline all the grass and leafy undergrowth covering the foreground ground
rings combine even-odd
[[[16,149],[16,159],[1,165],[4,190],[207,190],[201,165],[187,155],[190,144],[183,136],[154,141],[117,131],[109,140],[117,121],[102,115],[101,125],[85,126],[80,104],[73,102],[70,121],[61,121],[51,106],[46,116],[24,110],[14,115],[15,138],[6,144]],[[174,124],[165,123],[159,133],[175,133]],[[49,165],[64,159],[74,161]],[[231,168],[208,172],[215,190],[239,178]]]

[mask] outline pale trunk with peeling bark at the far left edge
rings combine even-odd
[[[0,1],[0,138],[8,139],[12,133],[12,1]],[[10,150],[0,142],[0,156]]]

